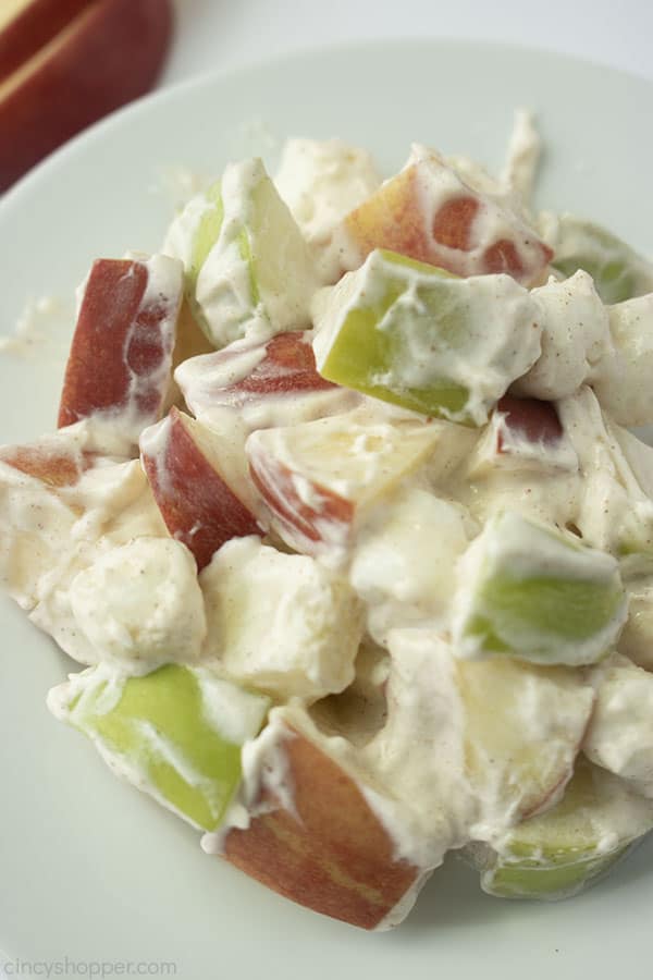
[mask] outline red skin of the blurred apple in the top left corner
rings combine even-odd
[[[48,57],[0,90],[0,191],[75,133],[148,91],[170,47],[170,0],[97,0]],[[11,76],[10,76],[11,78]],[[10,85],[10,78],[4,84]]]

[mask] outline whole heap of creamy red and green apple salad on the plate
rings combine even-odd
[[[289,140],[99,259],[0,450],[48,705],[282,895],[398,923],[456,850],[574,895],[653,829],[653,266],[415,146]]]

